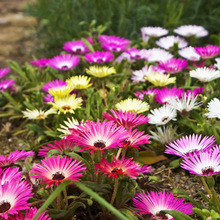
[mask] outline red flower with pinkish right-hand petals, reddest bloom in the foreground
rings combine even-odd
[[[96,173],[103,173],[103,175],[108,175],[108,177],[118,178],[119,176],[129,176],[133,179],[137,179],[140,173],[150,173],[153,172],[150,166],[141,167],[139,163],[135,163],[133,158],[125,159],[123,156],[121,159],[116,159],[114,156],[113,161],[109,163],[104,157],[101,163],[98,163],[94,167],[98,169]]]

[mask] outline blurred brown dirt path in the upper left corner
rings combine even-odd
[[[23,14],[27,2],[0,0],[0,68],[7,67],[7,60],[23,64],[32,59],[36,20]]]

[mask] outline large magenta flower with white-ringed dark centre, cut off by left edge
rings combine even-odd
[[[31,190],[24,181],[10,181],[0,185],[0,217],[8,219],[8,215],[29,209],[30,203],[27,201],[32,198]]]

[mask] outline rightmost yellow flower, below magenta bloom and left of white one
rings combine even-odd
[[[170,74],[162,74],[162,73],[151,73],[146,75],[144,78],[154,84],[154,86],[166,86],[171,83],[176,82],[176,77],[170,77]]]

